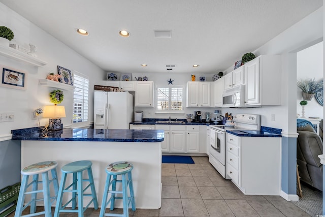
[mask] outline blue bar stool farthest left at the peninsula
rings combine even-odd
[[[31,164],[20,171],[22,174],[22,180],[20,185],[19,196],[17,200],[15,217],[18,216],[35,216],[44,214],[45,217],[51,217],[51,205],[56,200],[59,184],[56,173],[57,163],[55,161],[45,161],[36,164]],[[49,180],[49,174],[51,172],[52,179]],[[42,175],[42,181],[39,180],[39,174]],[[28,183],[29,176],[32,176],[32,180]],[[53,183],[54,196],[50,196],[50,183]],[[38,189],[38,184],[43,184],[43,189]],[[27,189],[31,186],[31,191]],[[37,194],[43,193],[43,198],[37,199]],[[24,206],[25,195],[30,195],[30,201]],[[36,212],[36,202],[44,201],[44,211]],[[30,205],[30,214],[22,215],[22,211]]]

